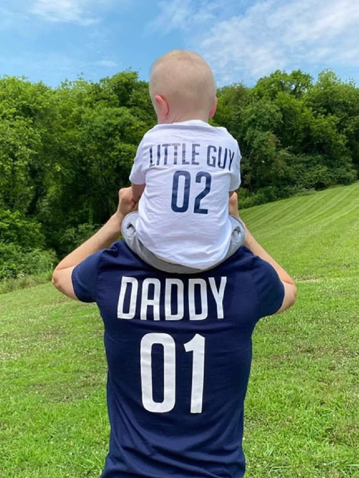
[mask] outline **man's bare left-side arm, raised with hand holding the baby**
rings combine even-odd
[[[68,254],[56,267],[52,282],[56,289],[71,299],[77,300],[72,285],[72,271],[74,268],[91,254],[111,246],[121,236],[123,218],[136,209],[136,203],[132,197],[131,188],[123,188],[119,192],[119,205],[116,213],[96,232],[90,239],[84,242],[76,250]]]

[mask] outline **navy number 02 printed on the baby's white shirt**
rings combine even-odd
[[[179,178],[184,178],[184,191],[183,191],[183,202],[182,206],[178,205],[178,189],[179,189]],[[208,209],[201,208],[201,201],[206,197],[211,191],[212,176],[209,173],[200,171],[196,175],[196,183],[201,184],[202,178],[205,178],[206,184],[203,191],[196,196],[194,200],[194,210],[196,214],[208,214]],[[172,185],[172,202],[171,208],[174,212],[186,212],[188,211],[190,203],[190,188],[191,188],[191,174],[188,171],[176,171],[173,175],[173,185]]]

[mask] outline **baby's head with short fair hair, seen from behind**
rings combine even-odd
[[[158,58],[149,88],[158,123],[208,121],[215,113],[213,72],[196,53],[174,50]]]

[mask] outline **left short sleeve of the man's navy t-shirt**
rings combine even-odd
[[[95,252],[80,262],[72,271],[72,285],[81,302],[96,302],[96,282],[99,272],[101,251]]]

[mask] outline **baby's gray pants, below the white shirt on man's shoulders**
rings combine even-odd
[[[150,266],[160,271],[170,272],[174,274],[196,274],[203,272],[203,269],[194,269],[193,267],[187,267],[180,264],[172,264],[170,262],[163,261],[159,259],[155,254],[148,250],[142,242],[138,239],[136,234],[136,221],[138,218],[138,212],[131,212],[128,214],[122,222],[122,235],[126,241],[127,246],[137,254],[143,261],[145,261]],[[235,216],[229,216],[229,219],[232,224],[232,237],[231,243],[227,255],[220,263],[224,262],[244,244],[245,239],[245,228],[241,221]],[[213,269],[218,264],[209,267],[206,270]]]

